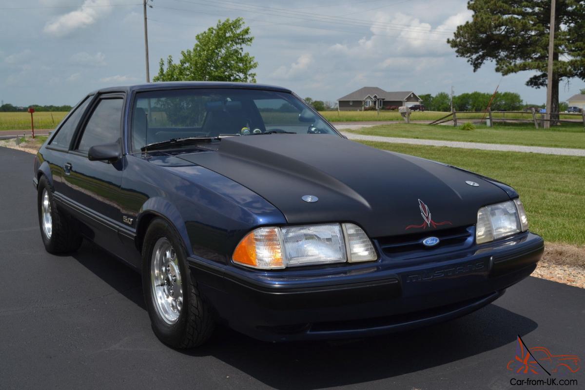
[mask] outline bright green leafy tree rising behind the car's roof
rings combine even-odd
[[[159,74],[153,80],[256,82],[252,71],[258,63],[244,51],[254,37],[242,18],[219,20],[215,27],[197,34],[195,40],[192,50],[181,51],[178,64],[168,56],[165,69],[161,58]]]

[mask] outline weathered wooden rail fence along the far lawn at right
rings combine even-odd
[[[474,116],[474,115],[478,116]],[[481,114],[481,116],[479,116]],[[497,114],[498,116],[494,116]],[[511,115],[506,118],[506,114]],[[514,118],[518,114],[522,115],[531,115],[532,118],[525,119],[525,118]],[[459,117],[457,117],[459,115]],[[544,122],[555,122],[555,123],[583,123],[583,128],[585,129],[585,110],[581,113],[567,113],[567,112],[553,112],[551,115],[559,115],[559,119],[547,119],[545,113],[537,113],[533,108],[531,111],[491,111],[487,109],[486,111],[453,111],[448,113],[447,115],[443,116],[435,120],[434,122],[429,123],[429,125],[440,125],[441,123],[453,121],[453,126],[457,126],[458,122],[473,122],[473,120],[487,120],[487,125],[490,127],[494,126],[494,122],[528,122],[534,123],[534,127],[536,129],[539,126],[542,126]],[[577,119],[561,119],[560,115],[563,116],[577,116]]]

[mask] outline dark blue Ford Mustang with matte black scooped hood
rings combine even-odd
[[[50,253],[142,273],[152,327],[194,347],[361,337],[462,316],[543,253],[501,182],[345,139],[284,88],[155,83],[86,96],[39,150]]]

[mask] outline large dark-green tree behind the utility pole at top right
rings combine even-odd
[[[472,0],[471,22],[458,26],[447,42],[458,57],[467,58],[477,71],[495,62],[502,75],[536,71],[526,81],[546,87],[550,31],[550,0]],[[559,112],[559,82],[585,79],[585,1],[556,0],[553,54],[552,112]]]

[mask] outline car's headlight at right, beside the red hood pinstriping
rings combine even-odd
[[[528,230],[520,199],[482,207],[477,211],[476,243],[483,244]]]

